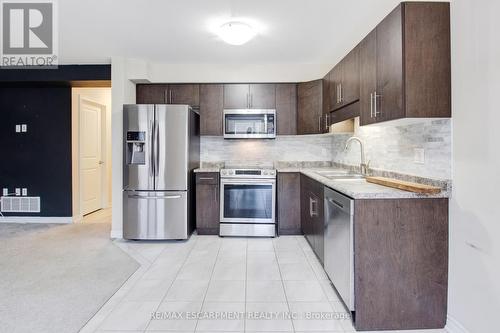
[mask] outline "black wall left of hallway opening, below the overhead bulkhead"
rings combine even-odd
[[[28,131],[16,133],[16,124]],[[72,215],[71,87],[0,86],[0,147],[0,191],[40,196],[41,213],[10,215]]]

